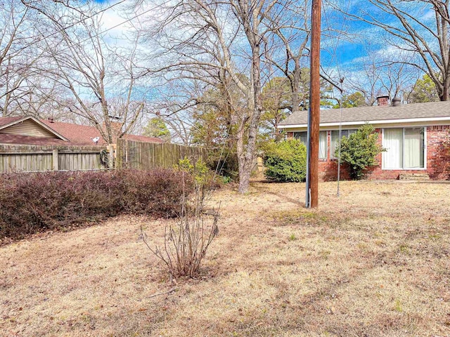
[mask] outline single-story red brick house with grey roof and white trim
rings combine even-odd
[[[349,136],[365,123],[379,133],[378,142],[386,152],[376,158],[378,166],[368,170],[368,179],[399,179],[421,176],[433,180],[450,179],[450,102],[388,104],[381,96],[373,107],[321,110],[319,170],[321,180],[336,180],[338,161],[334,156],[342,126],[342,136]],[[291,114],[281,122],[288,138],[306,143],[307,112]],[[341,177],[349,178],[342,166]]]

